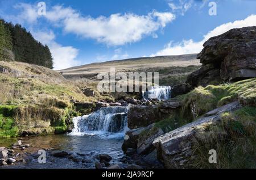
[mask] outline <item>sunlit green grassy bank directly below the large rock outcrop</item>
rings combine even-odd
[[[179,98],[179,97],[178,97]],[[230,102],[240,101],[243,105],[256,105],[256,78],[226,83],[196,87],[195,90],[182,96],[183,113],[193,119],[214,108]]]

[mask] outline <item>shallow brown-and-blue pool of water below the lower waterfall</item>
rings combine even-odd
[[[18,139],[0,139],[0,146],[10,146]],[[47,135],[23,137],[23,144],[30,144],[30,148],[25,151],[28,153],[26,164],[16,164],[5,166],[5,168],[94,168],[95,156],[97,154],[109,154],[113,157],[112,162],[118,162],[123,156],[121,149],[123,138],[106,139],[98,135],[70,136],[70,135]],[[38,149],[47,149],[46,164],[39,164],[37,154]],[[68,158],[57,158],[51,154],[55,151],[63,150],[74,154],[84,162],[74,162]],[[15,150],[16,152],[16,150]],[[82,156],[77,155],[82,154]],[[1,167],[3,168],[3,166]]]

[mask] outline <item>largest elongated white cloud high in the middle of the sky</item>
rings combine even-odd
[[[157,30],[174,20],[175,15],[153,11],[147,15],[129,13],[92,18],[82,16],[71,7],[53,6],[46,18],[56,26],[63,26],[65,32],[96,39],[107,45],[123,45],[154,35]]]

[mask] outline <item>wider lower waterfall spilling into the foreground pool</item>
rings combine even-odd
[[[129,107],[102,107],[90,115],[73,118],[71,135],[121,136],[127,131],[127,112]]]

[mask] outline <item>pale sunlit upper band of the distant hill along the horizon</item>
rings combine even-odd
[[[197,54],[129,58],[126,60],[106,61],[81,65],[59,70],[59,72],[65,78],[93,78],[97,76],[98,73],[109,72],[110,68],[115,68],[116,71],[134,72],[142,69],[200,65],[200,62],[196,59],[196,56]]]

